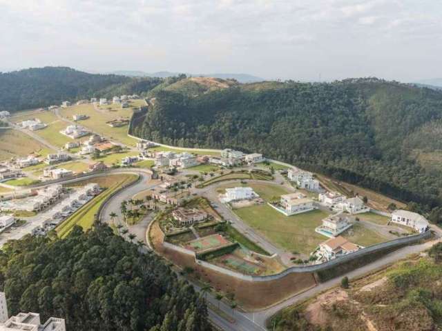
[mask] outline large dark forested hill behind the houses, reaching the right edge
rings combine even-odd
[[[262,152],[427,208],[441,201],[440,170],[416,161],[442,150],[441,92],[379,79],[226,83],[200,93],[189,84],[157,88],[135,134]]]

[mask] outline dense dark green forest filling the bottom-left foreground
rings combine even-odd
[[[155,254],[107,225],[66,239],[26,236],[0,251],[10,314],[66,319],[67,330],[211,330],[204,298]]]

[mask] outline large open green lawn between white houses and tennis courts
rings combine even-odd
[[[321,210],[286,217],[264,204],[236,209],[234,212],[272,243],[289,252],[310,254],[319,243],[327,240],[327,237],[315,232],[322,219],[328,216]]]

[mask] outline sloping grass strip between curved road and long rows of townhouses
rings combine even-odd
[[[57,228],[55,228],[58,237],[65,238],[72,230],[74,225],[81,226],[83,230],[88,230],[92,228],[95,214],[97,214],[100,205],[102,205],[102,203],[106,201],[106,198],[113,194],[113,192],[121,188],[122,185],[126,185],[127,183],[135,181],[137,179],[137,176],[134,174],[115,174],[106,176],[105,178],[106,181],[104,183],[107,183],[108,186],[104,186],[103,183],[101,183],[100,185],[102,185],[102,187],[107,187],[107,189],[101,192],[94,199],[90,200],[88,203],[86,203],[86,205],[81,207],[75,213],[70,215],[70,217],[64,222],[60,223]],[[92,181],[84,181],[82,183],[83,185],[85,185],[88,182],[99,183],[99,178],[93,179]],[[79,185],[79,183],[77,183],[77,185]]]

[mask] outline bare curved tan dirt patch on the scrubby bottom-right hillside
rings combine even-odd
[[[336,289],[331,292],[321,294],[318,299],[310,303],[305,309],[305,319],[309,323],[318,326],[326,326],[328,312],[325,308],[333,305],[338,301],[347,301],[348,294],[344,290]]]

